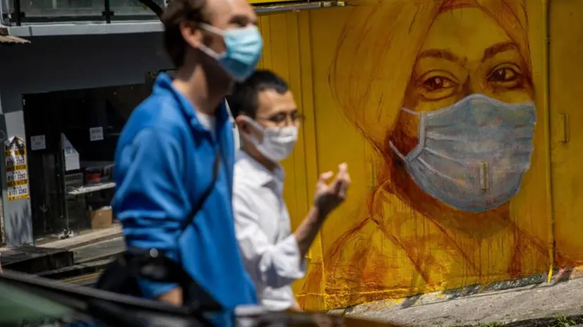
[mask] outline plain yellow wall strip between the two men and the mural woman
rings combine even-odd
[[[259,27],[263,34],[263,57],[259,68],[274,70],[291,87],[298,110],[306,117],[294,154],[282,164],[286,171],[284,197],[294,230],[308,212],[313,198],[313,187],[318,176],[315,150],[315,125],[309,42],[309,17],[299,13],[262,16]],[[314,242],[308,254],[310,265],[321,262],[320,240]],[[300,292],[303,280],[298,280],[294,291]]]

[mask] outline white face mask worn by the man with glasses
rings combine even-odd
[[[263,133],[263,142],[259,142],[253,135],[248,135],[242,131],[240,131],[241,135],[251,142],[265,158],[275,162],[282,161],[294,151],[294,146],[298,140],[298,126],[266,128],[247,116],[244,116],[244,119],[253,128]]]

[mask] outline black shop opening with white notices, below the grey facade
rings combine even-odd
[[[23,96],[37,240],[112,224],[116,142],[147,96],[143,83]]]

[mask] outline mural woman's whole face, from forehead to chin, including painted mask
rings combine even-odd
[[[517,44],[478,8],[435,20],[391,142],[424,192],[476,212],[516,194],[536,122],[528,74]]]

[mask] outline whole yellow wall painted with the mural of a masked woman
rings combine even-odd
[[[347,307],[583,261],[583,0],[550,2],[355,0],[347,8],[260,17],[260,66],[290,82],[306,115],[294,156],[284,162],[292,227],[311,204],[318,173],[347,161],[353,180],[349,199],[308,255],[308,276],[294,285],[304,308]],[[418,144],[419,118],[401,109],[436,112],[464,103],[483,110],[457,116],[450,127],[473,119],[476,128],[450,134],[445,145],[428,141],[433,155],[448,160],[423,157],[449,179],[414,179],[390,147],[392,141],[407,153]],[[501,103],[515,106],[488,111]],[[536,116],[534,127],[528,113]],[[455,149],[466,152],[448,150],[456,137],[462,142]],[[475,152],[480,158],[469,160]],[[459,174],[461,161],[473,169],[467,175]],[[476,181],[482,163],[485,190]],[[445,192],[436,194],[436,183]]]

